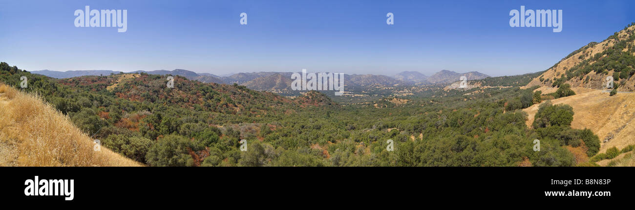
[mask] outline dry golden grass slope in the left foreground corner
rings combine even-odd
[[[0,83],[0,166],[142,166],[94,145],[41,97]]]

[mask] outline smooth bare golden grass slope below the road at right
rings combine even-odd
[[[635,93],[608,96],[603,90],[592,89],[578,90],[576,93],[575,96],[552,100],[553,104],[572,106],[575,112],[572,128],[591,129],[601,141],[600,152],[605,152],[613,146],[622,149],[629,144],[635,144]],[[526,121],[528,127],[533,123],[538,105],[523,109],[529,115]],[[603,142],[609,133],[612,133],[613,139]]]

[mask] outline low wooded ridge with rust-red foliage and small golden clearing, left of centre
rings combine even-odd
[[[121,75],[84,76],[58,82],[74,89],[92,92],[107,89],[110,90],[107,94],[127,101],[152,102],[222,113],[265,113],[273,106],[296,106],[289,99],[271,92],[250,90],[241,85],[203,83],[177,76],[174,77],[174,88],[170,89],[166,88],[164,75],[142,73],[138,77],[126,77],[125,80],[117,79],[119,76]]]

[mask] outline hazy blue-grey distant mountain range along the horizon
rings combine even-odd
[[[147,73],[150,75],[179,75],[189,80],[198,80],[200,82],[207,83],[224,83],[232,84],[237,83],[244,85],[253,90],[266,90],[271,92],[279,92],[279,90],[291,90],[291,72],[274,72],[274,71],[261,71],[251,73],[235,73],[226,77],[219,77],[211,73],[196,73],[194,71],[176,69],[172,71],[156,70],[156,71],[131,71],[127,73]],[[37,73],[54,78],[71,78],[81,76],[97,76],[97,75],[110,75],[121,73],[121,71],[110,70],[89,70],[89,71],[31,71],[31,73]],[[371,85],[384,85],[384,86],[396,86],[396,85],[418,85],[422,83],[451,83],[459,80],[461,76],[467,77],[468,80],[479,80],[482,78],[490,77],[483,73],[476,71],[468,73],[456,73],[454,71],[439,71],[431,77],[426,77],[424,74],[417,71],[403,71],[398,73],[394,77],[388,77],[385,75],[345,75],[344,83],[347,86],[360,86],[366,87]],[[277,91],[276,91],[277,90]]]

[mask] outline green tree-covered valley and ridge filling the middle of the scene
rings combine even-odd
[[[168,75],[145,73],[55,79],[0,64],[0,82],[20,89],[22,76],[29,84],[22,91],[41,95],[104,147],[148,166],[575,166],[593,163],[577,163],[566,147],[588,157],[599,149],[591,130],[570,127],[570,106],[544,102],[526,126],[520,109],[545,98],[535,87],[518,87],[531,75],[486,79],[515,87],[436,90],[403,103],[374,102],[381,106],[179,76],[167,88]]]

